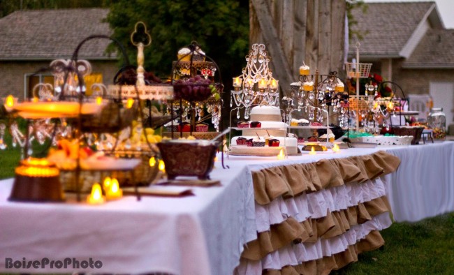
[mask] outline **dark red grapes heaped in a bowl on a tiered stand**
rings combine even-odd
[[[211,80],[196,75],[186,81],[181,79],[175,81],[173,90],[175,91],[175,99],[205,101],[205,99],[217,92],[217,87],[212,84]]]

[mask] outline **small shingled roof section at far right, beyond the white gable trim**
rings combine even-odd
[[[454,68],[454,29],[427,31],[402,67]]]

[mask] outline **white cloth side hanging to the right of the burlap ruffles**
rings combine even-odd
[[[454,211],[454,142],[387,149],[402,161],[388,174],[395,221],[420,221]]]

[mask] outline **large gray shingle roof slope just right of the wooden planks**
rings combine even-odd
[[[397,57],[413,31],[423,20],[434,2],[367,3],[367,11],[352,10],[358,24],[351,27],[360,31],[360,55]],[[358,40],[350,41],[349,54],[356,52]]]

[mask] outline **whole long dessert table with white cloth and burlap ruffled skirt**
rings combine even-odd
[[[400,166],[394,172],[399,163],[393,156],[400,159]],[[337,182],[337,173],[342,174],[346,184],[318,186],[311,179],[312,185],[306,185],[307,192],[294,192],[295,186],[291,184],[286,193],[279,193],[279,188],[274,190],[274,184],[258,187],[260,182],[271,180],[269,175],[261,176],[265,170],[281,167],[286,170],[295,165],[302,169],[306,169],[306,165],[323,168],[329,163],[345,163],[345,159],[361,160],[358,167],[360,163],[371,162],[379,163],[379,167],[361,168],[367,172],[367,179],[363,171],[359,173],[363,176],[358,174],[348,182],[345,175],[349,173],[343,172],[347,170],[344,165],[328,173],[332,175],[329,179],[323,179],[326,171],[318,171],[318,176],[312,175],[320,178],[320,182]],[[381,159],[396,167],[381,167],[386,166],[380,163]],[[281,269],[284,273],[291,266],[296,266],[296,270],[320,271],[320,267],[328,270],[339,266],[331,260],[321,265],[321,257],[332,255],[332,259],[338,260],[336,255],[341,255],[339,251],[344,249],[349,255],[342,254],[342,259],[348,263],[357,260],[357,253],[382,244],[376,232],[391,223],[389,205],[396,221],[418,221],[454,211],[454,142],[353,148],[336,154],[290,156],[283,161],[275,157],[230,156],[226,164],[230,169],[222,169],[217,162],[211,174],[221,186],[191,187],[194,195],[144,196],[140,201],[126,196],[98,206],[72,201],[60,204],[9,202],[13,179],[4,179],[0,181],[0,272],[261,274],[263,269]],[[354,170],[353,166],[349,165],[349,169]],[[278,176],[285,177],[285,173]],[[309,198],[311,196],[313,198]],[[353,200],[358,206],[347,203]],[[314,209],[314,205],[318,205],[318,209]],[[361,208],[362,205],[365,207]],[[353,219],[355,223],[343,223],[345,219],[340,216],[344,214],[329,214],[344,211],[351,222],[349,211],[345,209],[353,208],[358,212]],[[291,221],[291,217],[295,221]],[[293,228],[304,229],[304,232],[295,231],[299,243],[290,240],[291,246],[299,249],[299,255],[291,254],[288,240],[279,245],[273,240],[274,225],[283,220],[295,225]],[[335,225],[323,229],[328,220]],[[321,230],[325,231],[325,236]],[[372,239],[368,239],[368,235]],[[266,236],[271,236],[269,247],[263,241]],[[301,257],[311,264],[298,266]],[[38,269],[7,268],[7,258],[13,262],[22,262],[24,258],[61,262],[66,258],[78,261],[91,258],[102,262],[102,267],[57,268],[54,265],[51,268],[47,264]],[[17,265],[22,265],[20,262]]]

